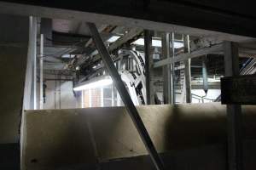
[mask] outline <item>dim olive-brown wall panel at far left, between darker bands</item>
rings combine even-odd
[[[0,46],[0,144],[19,142],[26,48]]]

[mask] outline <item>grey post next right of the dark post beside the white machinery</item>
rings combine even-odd
[[[170,58],[170,33],[164,33],[162,35],[162,57],[164,59]],[[172,104],[172,70],[171,65],[163,66],[164,77],[164,103]]]

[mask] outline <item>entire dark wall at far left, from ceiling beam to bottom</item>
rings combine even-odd
[[[18,169],[28,17],[0,15],[0,169]]]

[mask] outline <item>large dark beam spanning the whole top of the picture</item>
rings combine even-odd
[[[70,1],[46,3],[33,0],[21,2],[2,0],[0,1],[0,13],[140,27],[154,31],[172,31],[178,34],[214,37],[235,42],[244,42],[252,40],[249,37],[256,37],[256,32],[253,29],[256,27],[256,20],[248,15],[230,14],[229,11],[218,11],[216,8],[201,8],[199,4],[191,6],[185,2],[108,0],[106,3],[102,3],[102,0],[94,0],[84,3]],[[247,8],[250,8],[250,5],[247,5]],[[186,11],[186,15],[181,14],[180,11]],[[172,17],[170,18],[170,16]],[[207,20],[205,20],[206,18]]]

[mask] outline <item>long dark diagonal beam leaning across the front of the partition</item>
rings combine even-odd
[[[148,150],[148,153],[151,156],[152,161],[154,161],[154,166],[158,170],[163,170],[163,162],[161,161],[160,156],[158,155],[157,151],[154,148],[154,144],[149,137],[148,131],[143,124],[142,118],[139,116],[135,105],[133,105],[131,97],[127,89],[125,88],[125,84],[119,76],[119,72],[113,65],[113,60],[108,54],[108,49],[105,47],[104,42],[102,41],[102,37],[97,31],[95,24],[87,23],[87,26],[89,27],[91,36],[96,44],[96,48],[102,56],[104,65],[107,67],[108,73],[112,77],[113,83],[125,104],[125,108],[128,111],[129,115],[131,116],[131,120],[134,123],[135,127],[137,128],[137,131],[140,134],[141,139],[143,139],[143,143],[145,144],[145,147]]]

